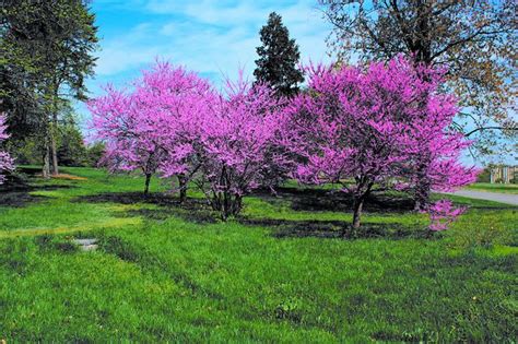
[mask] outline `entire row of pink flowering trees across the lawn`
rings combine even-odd
[[[282,96],[243,73],[219,92],[192,71],[157,62],[131,92],[108,87],[89,103],[106,142],[103,162],[111,171],[140,170],[144,193],[154,175],[177,178],[180,201],[193,186],[224,221],[239,214],[246,194],[289,178],[338,183],[354,200],[353,230],[374,189],[415,197],[423,182],[451,191],[475,180],[479,170],[459,162],[471,143],[450,128],[458,108],[438,92],[443,70],[398,56],[306,72],[307,90]],[[425,201],[434,229],[460,213]]]

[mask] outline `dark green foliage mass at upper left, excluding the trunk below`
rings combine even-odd
[[[84,97],[96,27],[84,1],[2,0],[0,8],[0,110],[19,139],[45,124],[56,83]]]

